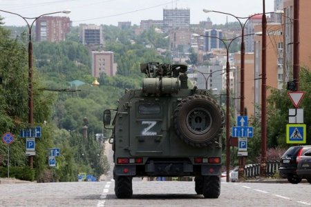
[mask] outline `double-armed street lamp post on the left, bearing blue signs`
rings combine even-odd
[[[65,13],[69,14],[70,10],[64,10],[60,12],[51,12],[51,13],[46,13],[46,14],[41,14],[39,17],[23,17],[21,14],[17,14],[15,12],[8,12],[5,10],[0,10],[0,12],[6,12],[9,14],[15,14],[19,17],[21,17],[24,21],[26,21],[27,26],[28,26],[28,124],[30,126],[33,126],[33,84],[32,84],[32,41],[31,41],[31,29],[35,21],[39,19],[40,17],[50,15],[50,14],[58,14],[58,13]],[[28,22],[28,19],[33,19],[32,23]],[[33,164],[33,157],[29,156],[28,159],[28,164],[30,168],[32,168]]]

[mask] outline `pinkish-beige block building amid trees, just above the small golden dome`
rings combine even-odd
[[[92,76],[100,77],[101,73],[111,77],[117,72],[117,63],[114,63],[113,52],[92,51]]]

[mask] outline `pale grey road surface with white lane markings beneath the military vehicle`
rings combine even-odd
[[[133,181],[133,198],[117,199],[114,181],[1,184],[0,206],[311,206],[310,187],[222,182],[220,197],[205,199],[194,181]]]

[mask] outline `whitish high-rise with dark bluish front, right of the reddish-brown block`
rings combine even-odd
[[[102,35],[102,26],[95,24],[80,24],[80,41],[84,45],[102,45],[104,38]]]

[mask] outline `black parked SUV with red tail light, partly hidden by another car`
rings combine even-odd
[[[310,152],[311,146],[292,146],[281,157],[279,175],[287,178],[291,184],[299,184],[302,177],[297,175],[297,163],[306,152]]]

